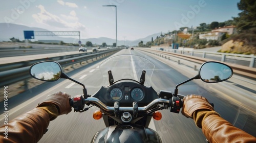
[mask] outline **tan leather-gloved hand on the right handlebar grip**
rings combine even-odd
[[[193,118],[193,113],[197,110],[209,110],[214,111],[214,108],[209,104],[206,98],[191,94],[183,98],[183,108],[181,113],[186,116]]]

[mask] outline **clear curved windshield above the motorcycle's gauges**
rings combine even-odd
[[[136,55],[118,55],[111,57],[99,66],[103,86],[110,85],[108,71],[112,71],[114,82],[121,79],[133,79],[139,82],[142,71],[145,70],[144,86],[150,86],[155,65],[147,59]]]

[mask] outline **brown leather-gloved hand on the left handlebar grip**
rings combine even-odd
[[[41,107],[47,104],[54,104],[58,109],[58,115],[68,114],[72,110],[69,104],[70,97],[71,96],[65,92],[50,94],[44,101],[39,103],[37,107]]]

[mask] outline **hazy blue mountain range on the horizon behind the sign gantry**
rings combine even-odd
[[[16,25],[13,23],[0,23],[0,41],[10,41],[10,38],[14,37],[19,40],[24,40],[24,31],[49,31],[42,28],[35,28],[35,27],[27,27],[24,25]],[[146,43],[148,41],[153,39],[156,39],[157,36],[160,36],[161,33],[156,33],[152,35],[148,35],[145,38],[137,39],[137,40],[118,40],[118,45],[138,45],[140,41],[143,41],[143,43]],[[35,36],[35,41],[37,40],[60,40],[66,43],[76,43],[78,42],[77,38],[71,38],[71,37],[60,37],[60,36]],[[112,45],[116,42],[116,39],[106,38],[106,37],[99,37],[99,38],[88,38],[88,39],[81,39],[82,44],[85,44],[87,41],[91,41],[93,44],[101,45],[103,42],[105,42],[108,45]]]

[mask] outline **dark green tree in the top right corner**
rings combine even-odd
[[[233,17],[238,30],[256,27],[256,1],[241,0],[238,9],[242,11],[238,14],[239,17]]]

